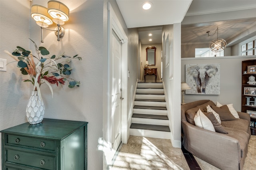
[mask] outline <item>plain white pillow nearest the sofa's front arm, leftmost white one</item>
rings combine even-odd
[[[197,127],[204,128],[206,130],[211,130],[215,132],[214,126],[212,125],[212,122],[202,111],[199,109],[194,117],[194,121]]]

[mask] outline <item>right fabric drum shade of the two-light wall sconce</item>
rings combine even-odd
[[[48,14],[52,16],[52,21],[56,24],[63,25],[69,19],[69,9],[61,2],[50,0],[48,2]]]

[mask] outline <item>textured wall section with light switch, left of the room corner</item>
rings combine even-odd
[[[7,59],[7,63],[14,59],[4,50],[12,53],[17,45],[29,47],[29,17],[28,0],[0,0],[0,58]],[[22,79],[24,76],[16,63],[7,65],[6,72],[0,71],[0,130],[26,121],[25,111],[31,91],[30,85]]]

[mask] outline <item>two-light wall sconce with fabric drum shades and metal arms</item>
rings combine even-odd
[[[43,43],[43,29],[50,31],[55,31],[55,35],[58,37],[57,40],[60,41],[65,34],[65,29],[60,26],[65,24],[69,18],[68,7],[58,1],[50,0],[48,2],[48,8],[41,5],[32,5],[31,7],[31,17],[36,21],[36,24],[41,27],[41,42]],[[47,27],[52,24],[52,22],[57,24],[57,30],[51,30]]]

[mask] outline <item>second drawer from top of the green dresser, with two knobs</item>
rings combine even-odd
[[[33,166],[44,170],[55,170],[55,156],[24,152],[19,150],[6,150],[6,163]]]

